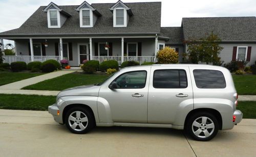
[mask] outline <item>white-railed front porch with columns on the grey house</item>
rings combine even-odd
[[[9,38],[10,39],[10,38]],[[4,62],[44,62],[54,59],[69,60],[71,66],[79,66],[83,60],[116,60],[154,62],[159,49],[158,37],[79,37],[79,38],[12,38],[15,56],[4,56]],[[109,48],[105,49],[108,44]]]

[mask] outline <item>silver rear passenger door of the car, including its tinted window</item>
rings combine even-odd
[[[153,66],[148,89],[148,123],[173,124],[187,103],[193,108],[193,89],[187,65]]]

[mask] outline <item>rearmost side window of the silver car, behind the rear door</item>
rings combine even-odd
[[[217,70],[194,70],[198,88],[225,88],[226,81],[223,73]]]

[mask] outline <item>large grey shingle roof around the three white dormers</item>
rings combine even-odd
[[[39,7],[18,29],[0,33],[0,36],[59,36],[59,35],[120,35],[120,34],[159,34],[161,27],[161,2],[125,3],[133,10],[127,27],[113,27],[113,13],[109,10],[114,4],[92,4],[102,15],[93,28],[80,28],[78,6],[59,6],[72,14],[61,28],[48,28],[47,13]]]

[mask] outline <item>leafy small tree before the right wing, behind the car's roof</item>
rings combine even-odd
[[[221,39],[218,35],[212,32],[206,38],[186,41],[188,59],[194,64],[198,64],[201,61],[206,64],[221,65],[219,54],[223,47],[219,46],[220,41]]]

